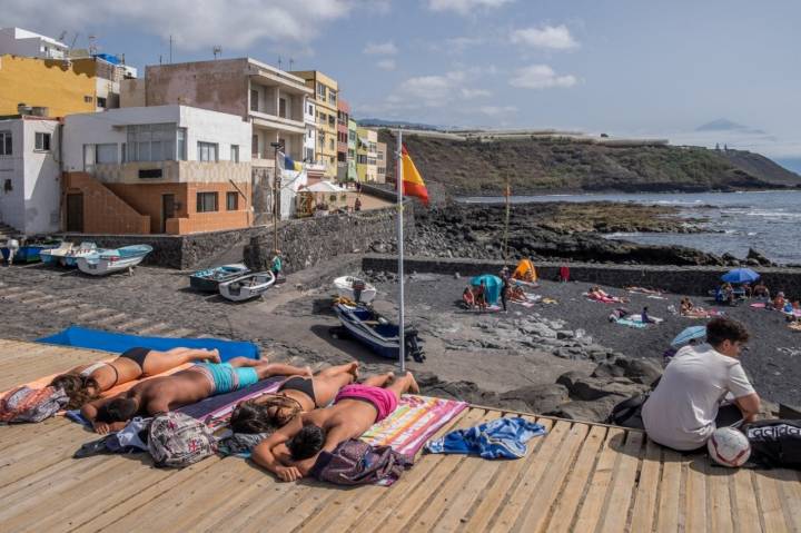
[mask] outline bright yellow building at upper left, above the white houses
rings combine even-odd
[[[18,106],[48,108],[63,117],[96,110],[97,82],[81,66],[60,59],[0,56],[0,115],[17,115]]]

